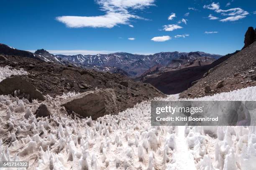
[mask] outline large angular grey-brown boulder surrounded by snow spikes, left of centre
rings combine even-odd
[[[116,111],[116,96],[111,88],[99,89],[68,98],[61,102],[61,106],[82,117],[92,116],[92,119],[95,120]]]

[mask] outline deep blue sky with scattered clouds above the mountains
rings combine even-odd
[[[52,53],[203,51],[243,47],[255,0],[1,0],[0,42]]]

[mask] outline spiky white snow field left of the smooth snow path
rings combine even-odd
[[[30,160],[38,170],[154,170],[175,161],[175,127],[151,127],[149,101],[92,121],[61,112],[60,101],[73,95],[46,96],[53,116],[37,120],[36,100],[1,95],[0,160]]]

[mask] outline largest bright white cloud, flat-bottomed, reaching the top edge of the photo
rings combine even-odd
[[[57,17],[61,23],[69,28],[113,28],[118,24],[129,25],[131,18],[143,19],[131,14],[128,10],[143,9],[154,5],[154,0],[96,0],[105,15],[100,16],[61,16]]]

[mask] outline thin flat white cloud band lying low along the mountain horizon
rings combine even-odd
[[[28,50],[29,52],[35,52],[36,50]],[[62,55],[77,55],[77,54],[82,54],[82,55],[96,55],[96,54],[110,54],[110,53],[115,53],[115,52],[120,52],[120,51],[107,51],[107,50],[47,50],[51,54],[57,55],[57,54],[62,54]]]

